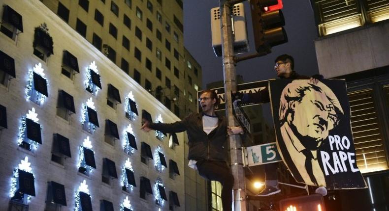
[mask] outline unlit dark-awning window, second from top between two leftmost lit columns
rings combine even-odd
[[[57,116],[69,121],[70,114],[75,112],[73,96],[64,90],[60,90],[57,100]]]

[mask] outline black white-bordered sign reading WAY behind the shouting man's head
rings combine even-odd
[[[273,80],[273,79],[270,79]],[[269,103],[269,88],[268,88],[268,81],[269,80],[260,80],[260,81],[254,81],[250,83],[241,83],[236,86],[236,90],[240,93],[259,93],[262,94],[264,97],[261,98],[259,101],[256,102],[250,102],[250,103],[239,103],[239,106],[253,106],[253,105],[259,105],[264,103]],[[224,87],[214,88],[211,90],[215,90],[216,94],[218,94],[218,97],[220,99],[220,105],[218,109],[216,110],[224,110],[226,109],[226,97],[224,95]],[[202,91],[197,92],[197,98],[200,97]],[[231,102],[232,104],[232,102]],[[200,112],[201,107],[197,104],[197,110]]]

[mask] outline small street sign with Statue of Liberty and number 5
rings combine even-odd
[[[244,165],[255,166],[281,161],[276,142],[245,147],[243,150]]]

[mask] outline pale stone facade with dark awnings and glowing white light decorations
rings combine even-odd
[[[184,134],[140,130],[179,118],[41,1],[0,2],[0,210],[185,210]]]

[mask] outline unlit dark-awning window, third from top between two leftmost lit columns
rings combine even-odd
[[[51,161],[64,165],[65,158],[71,158],[69,139],[55,133],[51,152]]]

